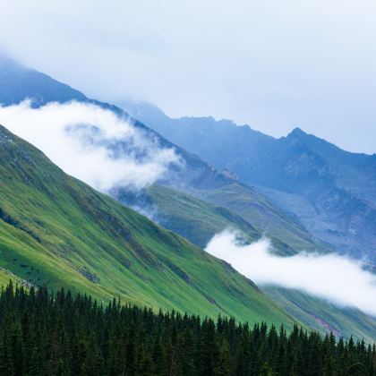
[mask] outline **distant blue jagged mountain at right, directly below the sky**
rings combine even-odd
[[[375,260],[375,154],[340,150],[300,129],[275,139],[228,120],[172,119],[148,103],[121,105],[177,145],[254,185],[338,252]]]

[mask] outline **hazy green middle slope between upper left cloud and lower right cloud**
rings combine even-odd
[[[225,229],[242,233],[244,240],[252,243],[264,235],[241,216],[223,206],[203,201],[185,192],[153,184],[140,192],[124,189],[111,192],[118,201],[157,221],[158,224],[184,236],[192,244],[204,248],[209,240]],[[278,238],[271,237],[275,252],[282,255],[296,251]]]

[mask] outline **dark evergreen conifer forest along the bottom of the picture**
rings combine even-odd
[[[0,296],[0,374],[371,376],[376,348],[11,283]]]

